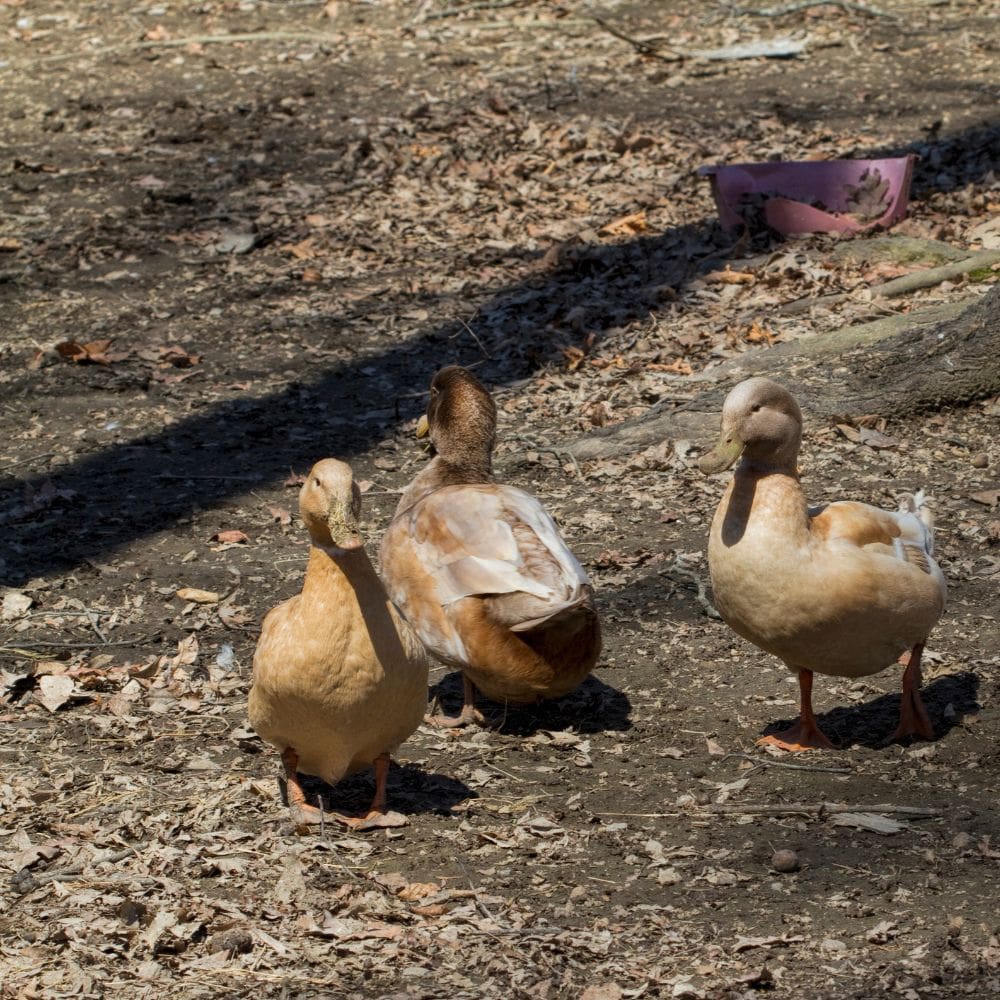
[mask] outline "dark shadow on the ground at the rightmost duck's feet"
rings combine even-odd
[[[962,724],[966,715],[979,711],[979,678],[971,671],[948,674],[925,684],[921,688],[924,705],[934,726],[934,742],[945,737]],[[862,705],[831,709],[817,715],[820,728],[838,749],[863,746],[881,750],[889,746],[899,722],[900,696],[884,694]],[[774,722],[761,733],[769,736],[794,723],[795,719]]]

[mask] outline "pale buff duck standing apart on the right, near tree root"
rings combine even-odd
[[[813,714],[813,674],[866,677],[897,658],[907,665],[894,739],[932,739],[920,656],[946,587],[923,494],[899,511],[853,501],[809,509],[797,469],[801,440],[792,395],[751,378],[726,397],[719,442],[699,463],[705,473],[739,463],[709,536],[716,607],[733,631],[798,675],[798,721],[761,742],[831,748]]]

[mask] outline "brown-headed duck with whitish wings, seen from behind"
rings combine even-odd
[[[601,629],[587,574],[535,497],[496,481],[497,411],[469,371],[431,382],[418,436],[435,457],[382,540],[389,596],[427,649],[462,672],[464,704],[434,725],[483,722],[475,688],[501,702],[559,698],[590,673]]]

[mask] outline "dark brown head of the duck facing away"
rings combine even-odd
[[[496,430],[496,403],[483,383],[460,365],[442,368],[431,380],[417,437],[429,436],[434,450],[450,465],[489,473]]]

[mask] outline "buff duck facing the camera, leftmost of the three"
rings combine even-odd
[[[312,543],[305,582],[264,619],[250,724],[281,751],[297,828],[322,819],[307,804],[299,773],[334,785],[368,767],[375,769],[368,814],[331,818],[354,828],[388,825],[389,755],[423,718],[427,656],[365,552],[361,493],[350,466],[332,458],[314,465],[299,509]]]

